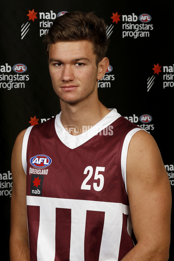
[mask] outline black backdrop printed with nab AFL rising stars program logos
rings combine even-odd
[[[173,1],[143,1],[137,4],[124,0],[114,3],[103,0],[17,0],[1,3],[2,260],[9,260],[10,159],[14,141],[23,129],[60,112],[59,98],[52,90],[43,43],[44,30],[49,28],[59,12],[94,11],[104,18],[108,27],[113,27],[107,53],[110,67],[99,82],[99,99],[105,106],[117,108],[121,115],[153,135],[174,195],[173,8]],[[169,260],[174,258],[173,230],[172,217]]]

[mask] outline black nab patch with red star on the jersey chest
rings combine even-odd
[[[41,175],[31,175],[31,187],[30,195],[31,196],[42,196],[42,185],[44,181],[44,176]]]

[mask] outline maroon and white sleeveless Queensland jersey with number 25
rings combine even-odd
[[[126,157],[140,128],[113,109],[73,136],[60,116],[23,139],[30,260],[119,261],[134,247]]]

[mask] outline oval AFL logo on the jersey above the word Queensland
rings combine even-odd
[[[36,155],[30,159],[31,165],[35,168],[46,168],[51,162],[51,158],[46,155]]]

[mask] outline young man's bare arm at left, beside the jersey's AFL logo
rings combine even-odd
[[[30,261],[26,208],[26,174],[21,161],[22,141],[25,131],[22,131],[15,141],[11,161],[13,179],[10,231],[11,261]]]

